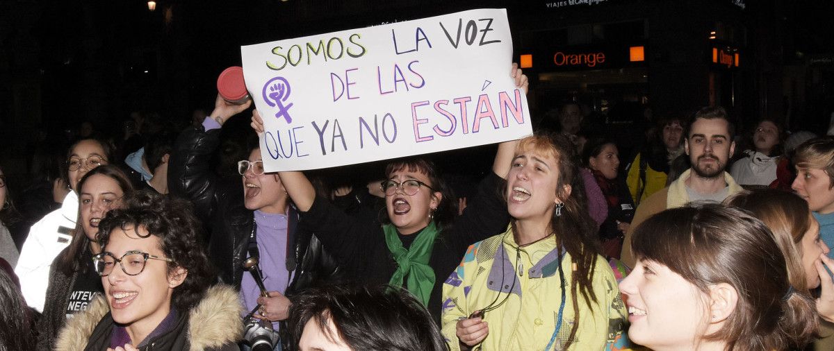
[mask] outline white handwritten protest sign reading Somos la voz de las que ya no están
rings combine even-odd
[[[350,165],[531,132],[505,10],[242,47],[267,171]]]

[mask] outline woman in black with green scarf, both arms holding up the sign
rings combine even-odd
[[[527,91],[527,77],[515,64],[517,87]],[[263,132],[258,111],[253,128]],[[431,161],[409,158],[389,163],[381,184],[386,223],[357,220],[321,194],[299,171],[279,172],[284,188],[301,212],[299,225],[312,230],[339,266],[357,284],[403,286],[440,321],[441,285],[457,267],[466,248],[506,229],[510,223],[500,195],[517,141],[501,143],[492,170],[467,201],[463,215],[450,213],[450,196]],[[438,280],[440,279],[440,280]]]

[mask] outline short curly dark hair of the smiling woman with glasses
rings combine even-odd
[[[171,302],[180,311],[187,311],[203,299],[217,275],[208,262],[205,248],[199,241],[203,225],[187,200],[140,190],[124,199],[123,208],[108,212],[98,225],[98,243],[105,248],[112,230],[126,226],[148,230],[148,236],[159,238],[160,249],[168,262],[168,272],[182,267],[188,271],[183,284],[173,289]],[[147,236],[146,236],[147,237]]]

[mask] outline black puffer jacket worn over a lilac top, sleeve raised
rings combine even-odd
[[[240,289],[254,214],[244,206],[240,178],[221,178],[209,166],[219,136],[219,129],[204,131],[203,126],[188,127],[180,134],[168,164],[168,190],[192,200],[208,231],[209,260],[219,269],[220,279]],[[287,255],[287,269],[295,273],[285,294],[338,281],[341,272],[335,260],[312,233],[296,230],[299,215],[295,210],[290,209],[288,217],[287,233],[293,243],[289,247],[294,248],[294,255]]]

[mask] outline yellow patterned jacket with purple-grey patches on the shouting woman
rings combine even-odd
[[[503,244],[503,245],[502,245]],[[565,284],[570,286],[570,255],[562,255]],[[460,349],[455,324],[476,310],[485,313],[490,334],[483,350],[542,350],[550,344],[561,303],[559,251],[554,236],[518,249],[510,229],[471,245],[443,285],[442,329],[453,350]],[[614,273],[598,256],[592,279],[597,301],[588,308],[581,296],[579,329],[571,350],[627,349],[628,316]],[[506,300],[505,300],[506,298]],[[505,301],[504,301],[505,300]],[[502,303],[503,301],[503,303]],[[570,289],[565,294],[562,324],[550,349],[562,349],[576,323]]]

